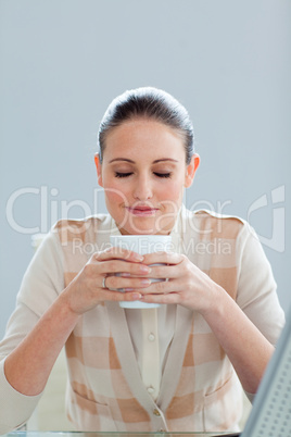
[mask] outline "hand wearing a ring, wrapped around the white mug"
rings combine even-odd
[[[83,314],[106,300],[139,300],[142,297],[139,290],[151,283],[147,277],[150,267],[142,264],[142,260],[143,257],[136,252],[114,247],[96,252],[61,297],[76,314]],[[115,276],[116,273],[119,275]],[[106,288],[103,288],[104,278]]]

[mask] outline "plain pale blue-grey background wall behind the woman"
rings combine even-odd
[[[33,255],[9,199],[42,187],[13,209],[38,232],[62,201],[94,212],[98,124],[116,95],[144,85],[193,120],[202,162],[187,204],[249,217],[289,307],[290,23],[289,0],[0,1],[0,336]],[[68,216],[83,215],[71,205]]]

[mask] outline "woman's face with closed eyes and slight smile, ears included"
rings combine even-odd
[[[96,161],[107,211],[122,234],[168,234],[199,157],[187,165],[177,132],[155,121],[134,120],[109,133],[102,165],[98,155]]]

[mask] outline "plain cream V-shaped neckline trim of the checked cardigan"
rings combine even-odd
[[[185,214],[187,210],[182,205],[174,228],[170,233],[172,245],[174,251],[182,253],[186,229]],[[113,218],[111,218],[111,235],[121,235]],[[163,411],[166,410],[172,398],[175,395],[179,376],[182,369],[184,355],[188,344],[189,333],[191,329],[192,311],[181,305],[176,307],[176,325],[167,361],[165,363],[164,372],[161,379],[160,394],[154,403],[153,398],[148,392],[144,386],[139,370],[137,357],[134,350],[130,333],[127,325],[125,310],[116,302],[106,302],[106,308],[111,322],[112,336],[114,338],[117,355],[125,375],[125,378],[132,391],[132,395],[139,400],[141,405],[146,409],[152,408],[157,404]]]

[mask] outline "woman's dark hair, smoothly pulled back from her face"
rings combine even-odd
[[[143,87],[125,91],[109,105],[100,124],[98,139],[100,162],[103,160],[106,135],[124,122],[150,118],[176,129],[185,142],[186,163],[194,152],[193,125],[185,107],[164,90]]]

